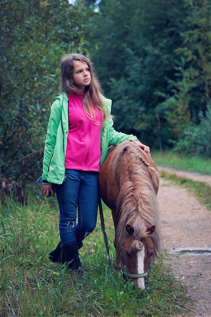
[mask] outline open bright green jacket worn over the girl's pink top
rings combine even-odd
[[[106,111],[111,114],[111,100],[105,99]],[[65,155],[69,129],[68,97],[66,93],[56,97],[51,106],[43,159],[43,183],[62,184],[65,178]],[[101,129],[101,161],[103,164],[108,147],[125,140],[138,140],[134,135],[117,132],[112,118],[106,118]]]

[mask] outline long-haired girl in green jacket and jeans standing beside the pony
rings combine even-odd
[[[98,173],[110,145],[136,136],[116,132],[111,100],[102,95],[91,61],[81,54],[61,60],[61,94],[52,104],[43,159],[43,186],[47,197],[57,195],[61,242],[50,252],[53,262],[69,262],[81,271],[78,249],[96,226]],[[76,217],[78,212],[78,222]]]

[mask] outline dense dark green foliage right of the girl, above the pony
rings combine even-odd
[[[206,117],[210,9],[207,0],[101,1],[91,46],[116,128],[162,149]]]

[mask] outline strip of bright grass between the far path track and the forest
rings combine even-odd
[[[211,175],[211,159],[187,157],[171,151],[152,152],[152,157],[158,166],[174,167],[180,170]]]

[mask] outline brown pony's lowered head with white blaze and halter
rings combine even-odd
[[[134,234],[133,225],[126,224],[125,229],[128,234],[120,251],[121,271],[125,279],[132,279],[134,288],[144,289],[152,256],[155,253],[151,239],[155,226],[148,226],[140,237]]]

